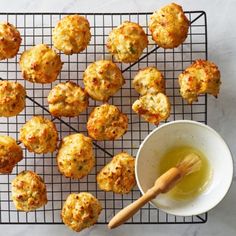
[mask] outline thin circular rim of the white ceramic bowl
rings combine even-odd
[[[166,209],[162,209],[161,207],[157,206],[153,200],[151,200],[149,203],[154,206],[155,208],[157,209],[160,209],[162,210],[163,212],[166,212],[167,214],[171,214],[171,215],[176,215],[176,216],[193,216],[193,215],[200,215],[200,214],[203,214],[205,212],[208,212],[210,211],[211,209],[213,209],[215,206],[217,206],[224,198],[225,196],[227,195],[231,185],[232,185],[232,180],[233,180],[233,173],[234,173],[234,161],[233,161],[233,156],[232,156],[232,152],[229,148],[229,146],[227,145],[227,143],[225,142],[225,140],[221,137],[221,135],[216,131],[214,130],[213,128],[211,128],[209,125],[206,125],[206,124],[203,124],[201,122],[198,122],[198,121],[193,121],[193,120],[174,120],[174,121],[170,121],[168,123],[164,123],[162,124],[161,126],[158,126],[156,127],[154,130],[152,130],[145,138],[144,140],[142,141],[141,145],[139,146],[139,149],[137,151],[137,154],[136,154],[136,158],[135,158],[135,179],[136,179],[136,182],[137,182],[137,185],[138,185],[138,188],[139,188],[139,191],[142,193],[142,195],[144,194],[144,191],[141,187],[141,184],[139,182],[139,178],[138,178],[138,159],[139,159],[139,156],[140,156],[140,152],[143,148],[143,146],[145,145],[146,141],[152,136],[154,135],[154,133],[158,132],[160,129],[162,128],[165,128],[166,126],[171,126],[171,125],[175,125],[175,124],[192,124],[192,125],[197,125],[197,126],[201,126],[205,129],[208,129],[210,132],[212,132],[216,137],[218,137],[222,144],[226,147],[226,149],[228,149],[229,151],[229,162],[230,162],[230,170],[231,171],[231,176],[230,176],[230,179],[229,181],[227,182],[227,186],[225,188],[225,193],[218,199],[218,201],[216,201],[216,203],[214,203],[213,205],[211,205],[209,208],[207,208],[206,210],[199,210],[199,211],[196,211],[194,212],[193,214],[178,214],[178,213],[171,213],[169,210],[166,210]]]

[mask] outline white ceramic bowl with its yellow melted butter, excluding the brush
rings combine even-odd
[[[135,162],[140,191],[145,193],[163,172],[192,152],[202,159],[201,171],[186,176],[170,193],[158,195],[150,202],[153,206],[169,214],[192,216],[223,199],[233,177],[230,150],[212,128],[189,120],[163,124],[144,139]]]

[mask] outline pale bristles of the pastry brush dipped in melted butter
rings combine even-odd
[[[191,173],[200,170],[202,161],[198,155],[191,153],[186,156],[176,167],[181,170],[183,175],[189,175]]]

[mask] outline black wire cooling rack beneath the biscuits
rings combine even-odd
[[[177,76],[195,59],[207,59],[207,25],[206,14],[203,11],[186,12],[191,25],[187,40],[178,48],[164,50],[156,46],[150,37],[147,23],[151,13],[130,14],[81,14],[87,17],[91,25],[92,39],[88,48],[78,54],[66,56],[61,54],[64,62],[62,72],[53,84],[32,84],[22,79],[19,70],[21,53],[39,43],[52,46],[52,29],[64,13],[1,13],[0,21],[14,24],[22,36],[22,45],[18,55],[0,62],[0,77],[3,80],[18,81],[27,90],[27,105],[17,117],[0,118],[0,134],[10,135],[18,140],[20,127],[34,115],[43,115],[51,119],[57,126],[60,139],[75,132],[87,134],[86,121],[88,114],[99,102],[90,100],[86,112],[77,118],[54,118],[48,112],[47,95],[51,88],[63,81],[72,80],[82,85],[82,73],[95,60],[111,59],[106,50],[106,40],[109,32],[125,20],[138,22],[143,26],[149,37],[149,46],[145,49],[139,61],[133,64],[120,64],[126,83],[123,88],[110,98],[109,103],[117,105],[129,117],[128,132],[116,141],[94,142],[96,166],[92,172],[81,180],[64,178],[57,169],[56,153],[37,155],[24,150],[24,159],[18,163],[11,175],[0,176],[0,223],[2,224],[57,224],[61,223],[60,211],[64,200],[71,192],[88,191],[95,195],[102,203],[102,211],[98,223],[107,223],[121,208],[140,196],[136,187],[127,195],[106,193],[98,189],[96,173],[120,151],[127,151],[134,155],[141,141],[154,128],[132,112],[131,105],[138,98],[132,89],[131,81],[140,68],[157,66],[166,79],[166,93],[170,98],[172,109],[168,121],[191,119],[207,122],[207,97],[200,96],[199,101],[188,105],[179,94]],[[83,86],[83,85],[82,85]],[[171,134],[170,134],[171,135]],[[33,170],[42,176],[48,192],[48,204],[36,211],[25,213],[16,211],[11,200],[10,183],[23,170]],[[192,217],[175,217],[145,205],[128,224],[168,224],[168,223],[204,223],[207,213]]]

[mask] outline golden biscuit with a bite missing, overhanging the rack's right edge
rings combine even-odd
[[[220,71],[210,61],[196,60],[179,75],[181,96],[192,103],[199,94],[209,93],[217,97],[220,91]]]

